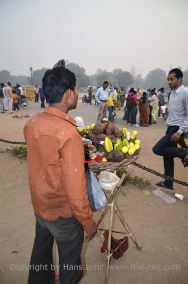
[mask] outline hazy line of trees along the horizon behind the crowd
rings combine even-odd
[[[101,86],[104,81],[111,82],[114,86],[117,87],[132,87],[148,89],[148,88],[169,88],[167,82],[167,72],[156,68],[151,70],[145,79],[142,78],[142,74],[137,71],[137,69],[132,66],[129,71],[124,71],[122,69],[114,69],[112,72],[108,72],[106,69],[97,69],[94,75],[88,76],[85,73],[85,69],[81,64],[75,62],[67,62],[66,68],[74,72],[77,78],[79,88],[86,88],[88,86],[95,86],[96,88]],[[178,67],[182,69],[181,67]],[[169,68],[169,71],[173,69]],[[42,68],[39,70],[34,70],[32,74],[33,85],[41,86],[42,77],[44,76],[47,68]],[[183,83],[185,86],[188,86],[188,68],[183,71],[184,80]],[[9,71],[2,70],[0,71],[0,83],[11,82],[12,85],[16,83],[27,86],[31,85],[31,77],[29,76],[11,76]]]

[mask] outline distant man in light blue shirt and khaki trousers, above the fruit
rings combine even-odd
[[[106,117],[108,103],[107,99],[109,94],[114,92],[114,88],[112,84],[110,83],[111,89],[108,88],[109,83],[105,81],[103,83],[103,86],[97,89],[97,92],[95,94],[95,99],[97,103],[99,103],[99,113],[97,117],[97,123],[99,123],[103,118]]]

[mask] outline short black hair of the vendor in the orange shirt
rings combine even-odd
[[[52,69],[48,69],[42,78],[44,95],[49,104],[60,103],[66,90],[74,91],[76,76],[65,68],[65,61],[59,60]]]

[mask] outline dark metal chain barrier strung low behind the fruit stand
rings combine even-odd
[[[0,139],[0,142],[4,142],[4,143],[8,143],[8,144],[16,144],[16,145],[27,145],[26,142],[8,141],[8,140],[4,140],[4,139]],[[184,186],[188,186],[188,183],[185,182],[185,181],[181,181],[181,180],[178,180],[178,179],[166,176],[164,174],[158,173],[155,170],[151,170],[151,169],[149,169],[149,168],[147,168],[145,166],[142,166],[141,164],[138,164],[137,162],[133,162],[132,164],[134,166],[140,168],[140,169],[143,169],[144,171],[147,171],[149,173],[152,173],[152,174],[155,174],[157,176],[160,176],[160,177],[162,177],[162,178],[164,178],[166,180],[170,180],[172,182],[175,182],[175,183],[178,183],[178,184],[181,184],[181,185],[184,185]]]

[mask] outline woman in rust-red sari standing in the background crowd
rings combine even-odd
[[[146,92],[139,99],[140,126],[148,126],[148,116],[150,114],[149,100]]]

